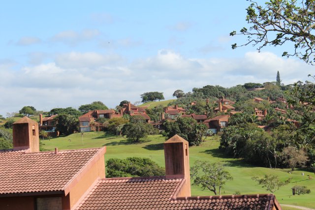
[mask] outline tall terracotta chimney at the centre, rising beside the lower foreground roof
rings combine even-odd
[[[188,141],[178,135],[173,136],[164,142],[164,156],[166,179],[185,178],[176,196],[191,196]]]

